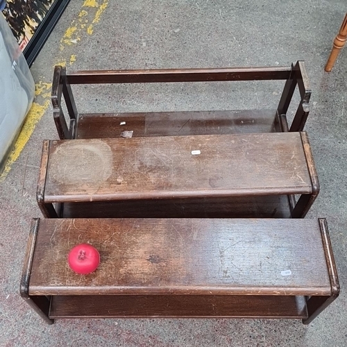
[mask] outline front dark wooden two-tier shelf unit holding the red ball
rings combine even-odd
[[[99,249],[81,276],[69,250]],[[21,294],[56,318],[262,317],[310,323],[339,295],[325,219],[34,219]]]

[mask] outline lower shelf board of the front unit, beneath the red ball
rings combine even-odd
[[[51,318],[307,318],[303,296],[52,296]]]

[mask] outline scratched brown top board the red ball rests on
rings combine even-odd
[[[99,269],[67,255],[89,243]],[[42,219],[30,295],[330,295],[319,223],[310,219]]]

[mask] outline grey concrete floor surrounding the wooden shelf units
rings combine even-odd
[[[31,68],[37,83],[33,124],[40,121],[1,183],[0,346],[347,346],[347,48],[332,73],[323,72],[346,11],[346,0],[71,1]],[[305,130],[321,183],[307,218],[328,218],[341,283],[337,301],[309,326],[258,319],[57,320],[45,325],[19,297],[19,278],[31,218],[41,216],[35,189],[42,140],[58,138],[46,84],[53,65],[142,69],[296,60],[305,60],[312,85]],[[81,111],[222,110],[276,105],[281,90],[271,82],[90,85],[76,88],[75,96]]]

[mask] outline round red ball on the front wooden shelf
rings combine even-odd
[[[90,244],[78,244],[69,253],[69,266],[72,271],[87,275],[94,272],[100,263],[99,251]]]

